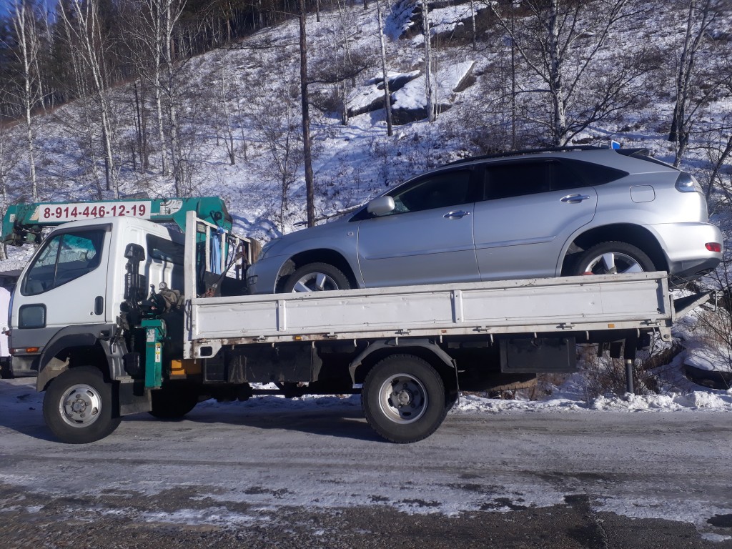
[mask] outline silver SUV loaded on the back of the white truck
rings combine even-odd
[[[445,165],[264,246],[253,294],[668,271],[722,257],[701,187],[646,149],[567,147]]]

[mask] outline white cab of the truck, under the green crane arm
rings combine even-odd
[[[113,335],[129,244],[146,251],[141,275],[150,285],[182,291],[182,242],[179,232],[135,217],[76,221],[48,234],[12,296],[12,373],[36,376],[55,349],[88,349]]]

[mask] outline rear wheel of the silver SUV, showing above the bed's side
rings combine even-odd
[[[585,250],[572,269],[572,275],[615,275],[656,270],[641,248],[627,242],[600,242]]]

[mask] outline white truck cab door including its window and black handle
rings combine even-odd
[[[42,347],[59,329],[111,321],[105,302],[110,225],[51,234],[18,282],[12,347]]]

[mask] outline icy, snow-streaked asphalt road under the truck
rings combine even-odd
[[[732,548],[728,412],[457,413],[395,445],[357,397],[204,403],[71,446],[8,383],[2,548]]]

